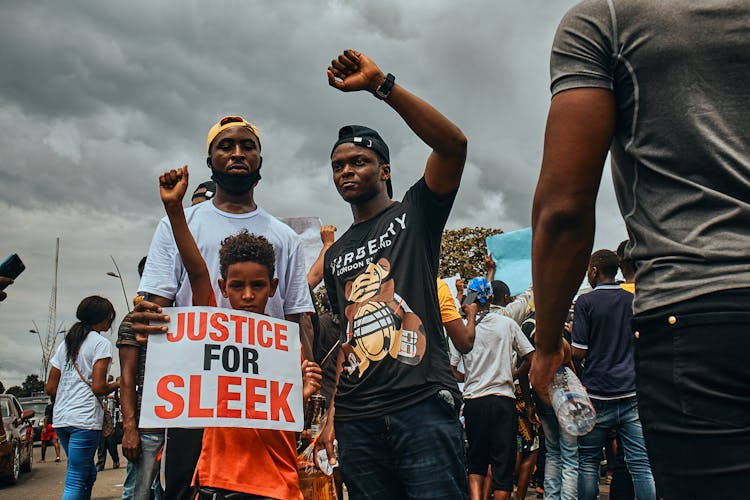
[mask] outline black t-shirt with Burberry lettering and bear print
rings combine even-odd
[[[459,395],[435,285],[454,199],[438,198],[422,178],[326,252],[326,289],[343,332],[337,419],[382,416],[441,389]]]

